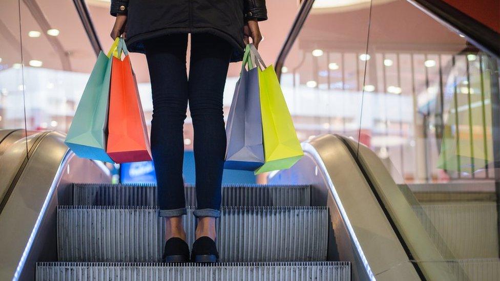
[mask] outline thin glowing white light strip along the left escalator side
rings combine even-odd
[[[52,198],[52,195],[54,193],[54,190],[57,186],[57,183],[60,179],[60,176],[63,174],[63,166],[64,163],[66,163],[74,153],[71,150],[67,150],[65,156],[63,157],[63,160],[61,160],[59,164],[59,168],[57,168],[57,171],[54,176],[54,180],[52,181],[52,184],[50,185],[49,192],[47,192],[47,197],[45,198],[44,204],[41,206],[41,210],[38,213],[38,218],[36,218],[35,226],[33,227],[33,230],[31,231],[31,235],[28,239],[28,243],[26,243],[26,247],[24,248],[23,255],[21,256],[21,259],[19,260],[19,264],[17,264],[17,269],[14,273],[14,277],[12,278],[13,281],[17,281],[20,277],[21,272],[23,272],[24,265],[26,264],[26,258],[28,257],[28,254],[31,250],[31,246],[33,245],[33,241],[35,240],[36,233],[38,232],[38,228],[40,227],[41,220],[44,218],[45,212],[47,211],[47,208],[49,206],[50,199]]]

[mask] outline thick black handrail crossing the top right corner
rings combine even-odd
[[[500,34],[442,0],[406,0],[441,24],[464,35],[477,48],[500,59]],[[471,5],[474,5],[471,3]]]

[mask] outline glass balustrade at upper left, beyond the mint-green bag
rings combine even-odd
[[[0,129],[67,132],[95,61],[72,1],[0,3]]]

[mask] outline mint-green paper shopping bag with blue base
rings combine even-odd
[[[78,157],[113,163],[106,154],[106,138],[111,58],[118,42],[116,39],[108,55],[99,53],[68,130],[65,143]]]

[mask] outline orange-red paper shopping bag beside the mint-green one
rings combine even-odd
[[[116,163],[151,160],[148,129],[137,81],[122,38],[119,39],[118,57],[113,57],[111,68],[108,131],[106,152]]]

